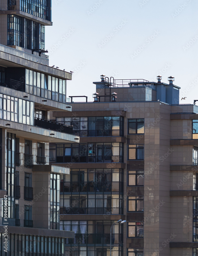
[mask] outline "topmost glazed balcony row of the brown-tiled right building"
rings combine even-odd
[[[81,137],[123,136],[122,116],[65,117],[56,121],[73,125],[73,134]]]

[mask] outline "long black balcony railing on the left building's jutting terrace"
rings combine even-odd
[[[71,125],[61,124],[53,121],[47,121],[39,118],[34,118],[34,125],[44,129],[73,134],[73,126]]]

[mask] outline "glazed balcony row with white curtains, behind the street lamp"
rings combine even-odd
[[[66,246],[71,244],[110,244],[110,227],[116,221],[60,221],[60,230],[74,231],[74,238],[66,238]],[[114,225],[112,228],[112,245],[121,246],[123,225]]]

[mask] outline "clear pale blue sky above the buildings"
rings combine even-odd
[[[164,83],[175,77],[180,103],[193,104],[197,10],[196,0],[52,0],[53,26],[45,27],[50,65],[73,71],[67,97],[93,101],[93,82],[101,81],[101,74],[149,81],[161,75]]]

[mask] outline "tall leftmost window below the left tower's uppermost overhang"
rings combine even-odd
[[[22,47],[22,17],[17,15],[8,15],[8,45],[17,45]]]

